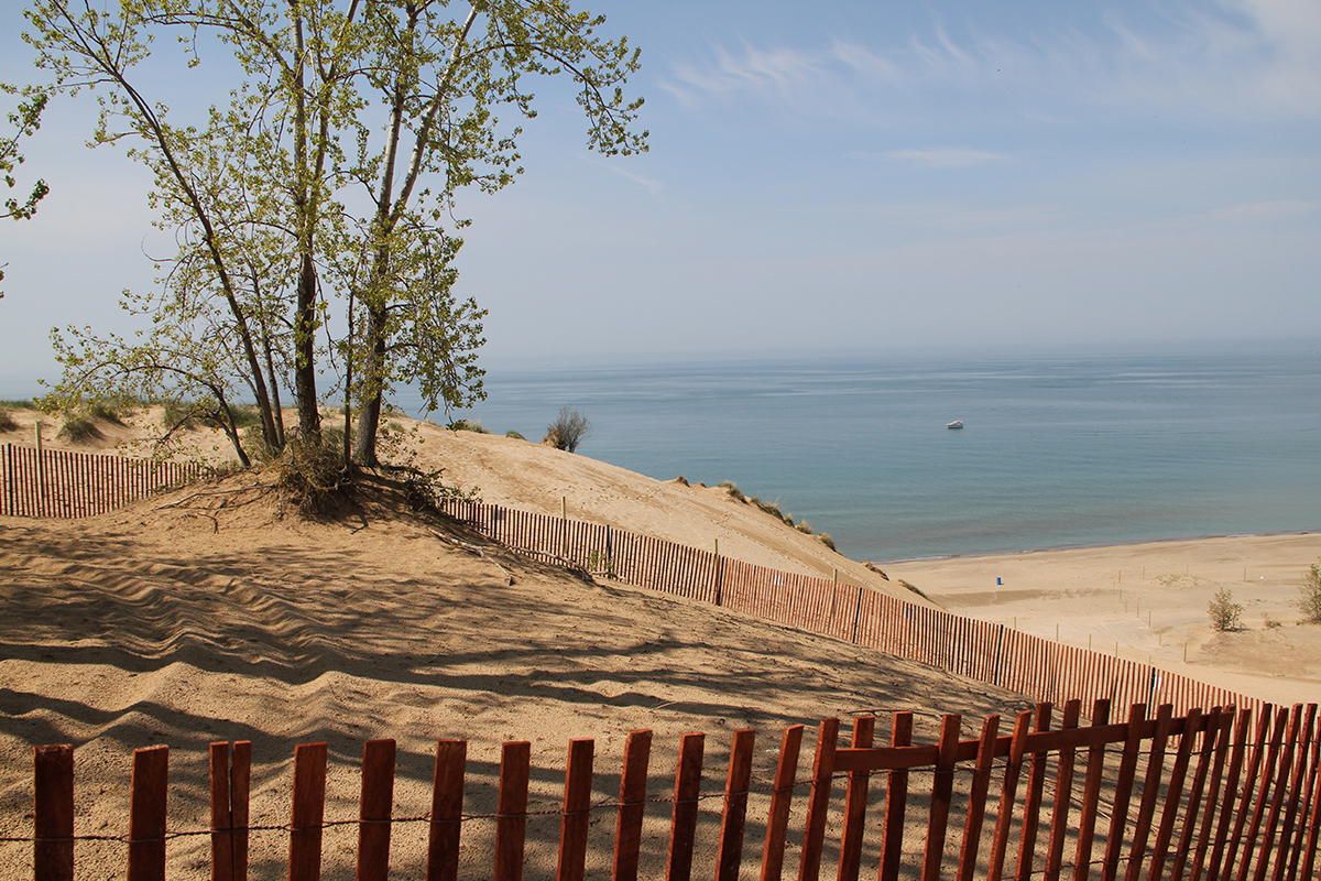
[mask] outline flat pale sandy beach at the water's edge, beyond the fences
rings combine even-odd
[[[1157,542],[884,565],[950,612],[1151,662],[1277,704],[1321,701],[1321,625],[1299,586],[1321,535]],[[997,580],[1000,581],[997,584]],[[1227,589],[1242,629],[1210,627]],[[1057,637],[1058,634],[1058,637]]]

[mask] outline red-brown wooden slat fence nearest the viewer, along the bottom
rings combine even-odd
[[[268,827],[248,820],[251,744],[213,744],[210,824],[194,829],[166,826],[168,748],[139,749],[123,836],[78,835],[73,749],[42,746],[36,750],[34,835],[5,840],[32,843],[38,881],[71,881],[75,847],[85,839],[122,847],[116,860],[127,865],[129,881],[149,881],[165,877],[172,840],[205,835],[211,877],[243,881],[254,836],[288,836],[287,877],[313,881],[322,873],[325,832],[353,824],[358,844],[349,859],[355,859],[359,880],[384,881],[392,872],[457,881],[460,848],[472,859],[476,847],[495,881],[520,881],[530,859],[544,869],[539,874],[548,876],[553,865],[557,881],[583,881],[593,820],[600,829],[613,815],[613,841],[590,840],[602,851],[592,864],[601,874],[609,865],[614,881],[659,878],[662,865],[667,881],[690,881],[695,869],[716,881],[737,881],[748,852],[760,852],[761,881],[779,881],[791,843],[799,881],[818,881],[827,861],[838,863],[839,881],[857,881],[864,869],[880,881],[1054,881],[1065,874],[1114,881],[1120,873],[1125,881],[1316,877],[1316,704],[1273,712],[1266,705],[1255,721],[1252,711],[1234,707],[1174,716],[1165,704],[1148,717],[1147,708],[1135,704],[1125,721],[1111,724],[1108,701],[1098,701],[1087,726],[1079,726],[1081,711],[1081,703],[1070,700],[1055,726],[1052,705],[1038,704],[1018,713],[1008,733],[1001,733],[999,716],[989,716],[972,729],[980,730],[974,740],[960,738],[959,716],[945,716],[938,740],[927,744],[911,742],[913,715],[901,712],[892,720],[888,746],[873,745],[875,717],[855,720],[848,746],[839,744],[839,720],[824,720],[807,777],[799,774],[803,726],[794,725],[779,741],[773,775],[758,782],[752,770],[756,733],[738,730],[723,793],[705,795],[704,734],[684,736],[675,775],[653,783],[651,732],[634,732],[625,745],[620,796],[604,803],[592,802],[593,741],[576,740],[564,766],[561,807],[540,812],[553,815],[548,819],[559,827],[557,847],[555,836],[527,837],[528,781],[547,775],[531,771],[526,741],[505,744],[498,802],[485,815],[465,812],[466,742],[437,742],[429,800],[400,804],[420,811],[399,819],[392,740],[363,748],[355,818],[326,816],[326,744],[301,745],[289,822]],[[659,787],[672,798],[653,798]],[[806,803],[795,810],[798,793]],[[719,833],[695,847],[699,820],[707,828],[715,822],[707,808],[715,798],[721,806]],[[748,831],[758,831],[761,816],[762,841],[745,841]],[[494,833],[474,845],[465,826],[482,820],[494,820]],[[646,828],[653,833],[645,835]],[[406,851],[407,839],[416,839],[410,852],[419,856],[391,868],[391,852]],[[336,848],[332,861],[345,849]],[[194,855],[189,865],[199,863]],[[264,865],[267,872],[277,868]],[[480,873],[486,876],[485,869]]]

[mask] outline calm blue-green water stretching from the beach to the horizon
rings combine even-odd
[[[495,370],[487,391],[464,415],[491,431],[539,440],[576,407],[580,453],[734,481],[853,559],[1321,528],[1310,347]]]

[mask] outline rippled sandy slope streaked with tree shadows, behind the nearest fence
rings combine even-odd
[[[939,713],[975,720],[1022,705],[707,605],[587,584],[499,551],[481,559],[437,539],[441,524],[419,520],[394,491],[306,523],[279,518],[262,477],[234,479],[254,486],[213,486],[206,491],[223,494],[160,507],[185,490],[86,520],[0,518],[0,835],[30,831],[37,744],[77,746],[78,831],[118,833],[129,752],[159,742],[170,745],[178,781],[172,824],[197,828],[213,740],[254,741],[254,822],[284,823],[296,742],[329,741],[330,815],[343,819],[353,816],[362,741],[398,738],[396,815],[410,816],[427,810],[437,737],[472,742],[470,766],[485,786],[470,789],[470,810],[490,807],[498,745],[531,740],[534,766],[546,769],[534,775],[534,807],[548,807],[571,737],[598,740],[597,798],[608,800],[622,737],[638,728],[657,733],[662,795],[690,730],[709,734],[705,789],[717,790],[737,728],[761,732],[765,767],[789,724],[905,708],[919,713],[922,736],[934,736]],[[654,814],[663,826],[664,806]],[[328,860],[339,866],[328,877],[347,872],[350,832],[328,837]],[[481,824],[465,833],[483,835]],[[424,837],[416,824],[400,831],[395,863],[416,864]],[[285,841],[259,836],[255,877],[279,874]],[[662,839],[649,841],[663,849]],[[28,859],[26,848],[0,848],[9,868]],[[172,843],[172,877],[196,877],[203,849],[205,839]],[[550,859],[546,848],[534,852],[534,863]],[[112,845],[79,845],[82,877],[110,877],[119,859]]]

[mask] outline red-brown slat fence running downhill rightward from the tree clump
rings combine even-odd
[[[542,560],[869,646],[1033,700],[1169,703],[1180,713],[1194,707],[1262,705],[1258,697],[1152,664],[1065,646],[831,579],[778,572],[609,526],[497,505],[449,499],[441,510]]]

